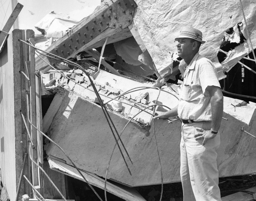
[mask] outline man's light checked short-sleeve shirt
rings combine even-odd
[[[218,74],[212,62],[199,55],[192,59],[184,73],[181,85],[178,116],[183,120],[211,121],[210,93],[207,86],[220,87]]]

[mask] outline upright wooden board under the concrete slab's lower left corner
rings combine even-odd
[[[65,175],[50,169],[49,163],[44,161],[44,171],[48,174],[62,195],[66,197]],[[46,199],[62,199],[58,191],[53,187],[49,179],[43,174],[43,197]]]

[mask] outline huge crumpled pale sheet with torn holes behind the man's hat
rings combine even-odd
[[[201,30],[206,43],[201,46],[200,54],[214,60],[225,36],[224,32],[231,27],[237,27],[240,22],[244,25],[239,1],[136,0],[136,3],[138,10],[134,18],[135,25],[161,76],[172,69],[172,61],[178,57],[177,42],[175,43],[174,38],[179,35],[180,27],[192,26]],[[256,42],[254,37],[256,27],[253,23],[256,18],[255,7],[255,1],[243,1],[253,44]],[[239,31],[237,28],[234,30],[236,33],[233,37],[237,38]],[[240,31],[248,39],[246,29],[241,27]],[[229,59],[227,58],[225,62]]]

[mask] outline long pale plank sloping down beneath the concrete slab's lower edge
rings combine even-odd
[[[51,158],[48,158],[48,161],[51,169],[71,176],[73,178],[79,179],[81,181],[84,181],[83,177],[78,173],[76,168]],[[104,189],[105,180],[103,180],[102,178],[98,177],[95,174],[90,174],[83,171],[82,174],[91,185],[96,186],[100,189]],[[107,182],[106,190],[107,192],[112,193],[118,197],[121,197],[126,201],[145,201],[145,199],[135,189],[123,186],[121,184],[118,185]]]

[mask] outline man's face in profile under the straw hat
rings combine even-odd
[[[190,38],[178,38],[178,44],[177,50],[178,50],[178,56],[183,58],[186,58],[186,56],[190,55],[192,53],[192,46],[193,43],[191,42]]]

